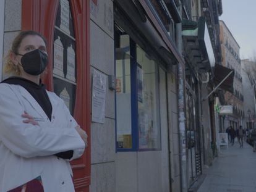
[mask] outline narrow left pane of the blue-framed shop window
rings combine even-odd
[[[132,148],[132,117],[130,91],[130,41],[119,36],[116,47],[116,131],[117,148]]]

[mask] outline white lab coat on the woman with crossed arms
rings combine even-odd
[[[0,83],[0,192],[38,176],[45,192],[74,191],[69,161],[53,154],[73,150],[72,159],[76,159],[82,156],[85,144],[64,101],[47,93],[53,107],[51,121],[22,86]],[[39,126],[23,123],[24,111]]]

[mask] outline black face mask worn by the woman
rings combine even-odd
[[[20,62],[23,70],[30,75],[40,75],[48,64],[48,56],[40,49],[27,52],[26,54],[18,54],[22,56]]]

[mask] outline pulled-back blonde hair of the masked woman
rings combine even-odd
[[[17,35],[12,41],[12,48],[8,51],[7,56],[4,58],[4,73],[9,73],[15,76],[20,76],[21,74],[21,66],[15,65],[11,59],[11,54],[17,54],[20,48],[20,43],[22,42],[23,38],[28,35],[37,35],[40,36],[43,41],[45,41],[45,45],[47,45],[46,39],[43,35],[36,31],[21,31],[19,35]]]

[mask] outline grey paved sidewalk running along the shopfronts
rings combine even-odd
[[[255,192],[256,152],[244,141],[226,149],[221,147],[213,165],[203,171],[205,180],[197,192]]]

